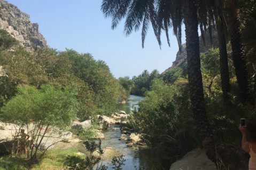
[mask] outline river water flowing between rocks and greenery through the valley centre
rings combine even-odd
[[[143,97],[130,95],[130,99],[125,104],[119,104],[119,110],[125,111],[127,114],[131,113],[131,110],[137,108],[137,103],[141,101]],[[113,130],[117,128],[117,130]],[[135,149],[133,147],[127,147],[125,141],[120,141],[119,137],[121,136],[121,130],[119,125],[111,125],[109,130],[104,133],[105,139],[102,141],[102,147],[111,147],[114,150],[118,150],[123,153],[125,165],[122,165],[123,170],[139,169],[151,169],[147,168],[152,167],[152,150],[151,149]],[[113,169],[113,165],[110,161],[104,161],[104,165],[108,166],[107,169]]]

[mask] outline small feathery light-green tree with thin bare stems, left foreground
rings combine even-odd
[[[13,122],[28,129],[32,137],[28,153],[30,159],[37,158],[40,145],[51,136],[49,129],[58,134],[59,129],[71,124],[79,104],[76,94],[76,89],[71,86],[42,85],[37,90],[34,86],[19,85],[18,94],[1,108],[6,123]],[[32,126],[30,120],[33,120]]]

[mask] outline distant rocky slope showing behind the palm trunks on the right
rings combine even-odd
[[[212,39],[213,39],[213,46],[210,43],[210,35],[205,33],[205,45],[203,42],[202,37],[199,37],[199,45],[200,45],[200,53],[207,52],[209,48],[217,48],[218,47],[218,35],[216,30],[212,30]],[[162,74],[165,74],[167,70],[174,69],[176,67],[183,67],[185,62],[187,61],[187,51],[186,51],[186,44],[182,44],[181,53],[178,51],[176,54],[176,60],[173,62],[172,67],[166,69]]]

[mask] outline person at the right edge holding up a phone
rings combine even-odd
[[[256,169],[256,119],[250,119],[246,126],[239,126],[242,132],[242,149],[249,152],[251,158],[249,160],[249,170]],[[246,139],[246,130],[248,130],[248,141]]]

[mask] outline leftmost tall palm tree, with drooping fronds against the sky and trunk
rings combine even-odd
[[[185,35],[187,45],[187,61],[188,61],[188,78],[190,101],[192,104],[193,117],[197,123],[199,134],[202,138],[202,144],[208,157],[216,162],[217,153],[221,153],[223,149],[218,143],[215,148],[216,140],[213,137],[210,123],[206,115],[206,106],[203,93],[203,82],[200,70],[200,54],[199,54],[199,37],[198,37],[198,18],[201,23],[207,25],[204,16],[210,9],[208,1],[191,1],[191,0],[103,0],[102,11],[105,17],[112,17],[112,28],[117,27],[119,21],[126,17],[125,33],[129,35],[131,31],[137,31],[142,24],[142,46],[149,23],[151,22],[154,34],[157,37],[159,45],[161,45],[160,34],[161,29],[166,30],[168,41],[168,28],[173,26],[174,33],[177,37],[179,45],[181,44],[181,23],[184,17]],[[157,6],[157,9],[154,7]],[[198,12],[198,9],[202,9]],[[158,11],[158,12],[156,12]],[[198,14],[200,17],[198,17]],[[226,149],[226,147],[224,147]],[[227,149],[228,150],[228,149]],[[230,153],[225,150],[224,153]],[[227,161],[226,164],[229,164]],[[234,161],[232,162],[234,164]],[[227,166],[228,167],[228,166]]]

